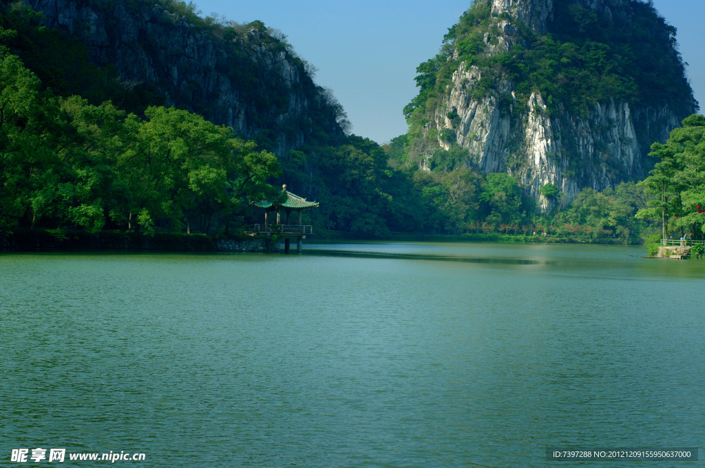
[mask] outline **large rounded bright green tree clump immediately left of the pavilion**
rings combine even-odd
[[[200,213],[208,231],[219,214],[226,224],[242,211],[246,197],[262,197],[278,175],[276,156],[254,142],[231,137],[231,129],[173,108],[149,107],[147,121],[126,125],[134,139],[119,156],[118,171],[133,195],[128,218],[138,214],[150,228],[165,219],[172,229],[190,231],[190,213]]]

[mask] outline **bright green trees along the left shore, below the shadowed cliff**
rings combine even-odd
[[[0,230],[19,226],[155,226],[208,232],[271,192],[274,154],[187,111],[146,118],[109,101],[56,97],[17,56],[0,51]]]

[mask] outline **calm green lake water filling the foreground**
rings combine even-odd
[[[643,247],[305,244],[303,254],[1,254],[0,466],[688,467],[705,262]],[[87,467],[109,462],[69,462]]]

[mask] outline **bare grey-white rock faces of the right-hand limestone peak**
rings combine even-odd
[[[491,0],[498,34],[484,35],[486,54],[524,45],[517,34],[521,23],[538,35],[550,32],[554,2],[568,0]],[[572,4],[591,8],[601,20],[629,20],[630,2],[626,0],[575,0]],[[458,59],[458,52],[451,58]],[[695,111],[692,106],[676,109],[668,102],[654,106],[611,98],[592,104],[587,114],[566,111],[562,103],[558,111],[549,113],[541,92],[532,92],[527,101],[517,99],[515,83],[508,78],[496,81],[493,93],[478,98],[473,90],[486,73],[489,70],[461,63],[427,128],[436,130],[441,147],[449,149],[453,142],[467,149],[472,159],[469,164],[488,173],[517,176],[527,194],[544,209],[551,208],[552,201],[542,197],[539,188],[548,183],[563,192],[561,202],[568,204],[583,187],[603,190],[641,177],[648,171],[645,158],[651,143],[665,141],[670,130]],[[498,96],[511,99],[501,105]],[[457,113],[455,119],[448,111]],[[452,130],[452,138],[441,137],[445,129]]]

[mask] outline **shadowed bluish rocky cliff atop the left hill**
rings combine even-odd
[[[166,105],[257,137],[284,156],[315,130],[341,134],[339,106],[304,63],[266,32],[199,27],[159,3],[27,0],[48,27],[84,43],[94,63],[115,66],[125,87],[148,84]]]

